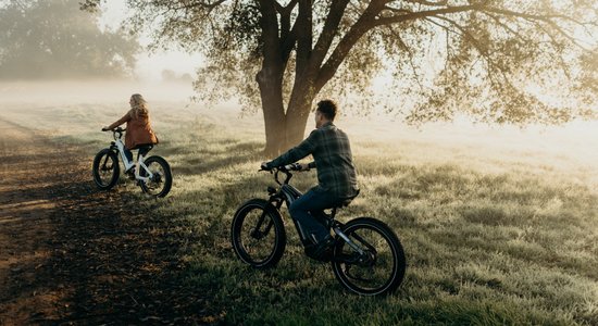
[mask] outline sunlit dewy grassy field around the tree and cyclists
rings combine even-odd
[[[126,111],[126,100],[11,103],[0,111],[57,141],[83,146],[91,162],[109,141],[99,129]],[[265,198],[273,184],[270,174],[258,173],[265,160],[260,116],[151,104],[161,139],[153,153],[166,158],[175,177],[151,214],[170,221],[173,235],[199,235],[180,250],[180,277],[212,298],[208,309],[225,323],[598,325],[598,142],[587,138],[591,130],[577,128],[575,137],[561,129],[416,130],[341,118],[362,191],[340,220],[383,220],[408,258],[395,294],[360,298],[341,288],[329,265],[302,254],[291,223],[276,268],[253,271],[236,259],[232,216],[244,201]],[[315,175],[294,181],[303,190]],[[130,184],[119,191],[142,202]]]

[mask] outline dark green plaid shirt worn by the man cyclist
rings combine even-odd
[[[311,131],[297,147],[267,163],[270,167],[295,163],[312,154],[310,168],[317,168],[316,188],[331,191],[338,198],[357,195],[357,176],[349,138],[333,123]]]

